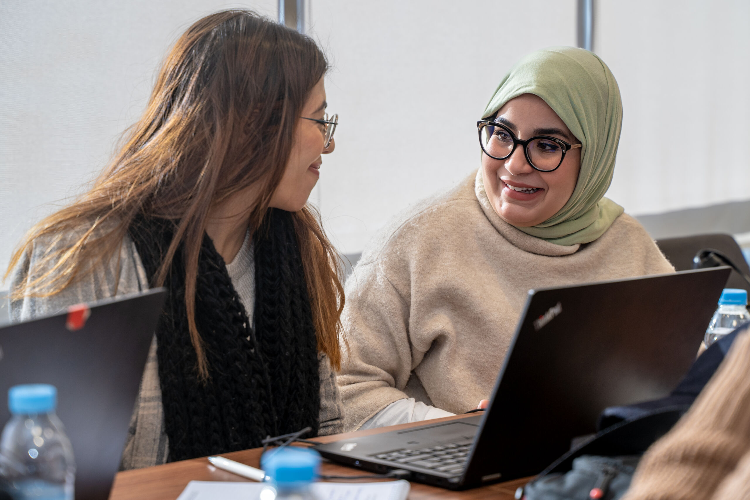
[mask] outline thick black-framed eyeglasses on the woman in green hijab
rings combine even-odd
[[[511,132],[508,127],[496,121],[479,120],[476,122],[479,130],[479,144],[481,150],[488,157],[495,160],[506,160],[513,154],[517,145],[523,146],[526,161],[539,172],[552,172],[562,165],[565,153],[581,144],[569,144],[562,139],[550,136],[534,136],[522,141]]]

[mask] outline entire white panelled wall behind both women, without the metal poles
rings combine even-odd
[[[344,253],[475,169],[474,123],[502,74],[527,52],[575,41],[575,0],[309,3],[341,115],[314,199]],[[273,17],[276,4],[245,3]],[[169,43],[228,6],[0,2],[0,269],[45,204],[106,163]],[[633,214],[750,199],[746,0],[599,0],[595,50],[625,106],[613,199]]]

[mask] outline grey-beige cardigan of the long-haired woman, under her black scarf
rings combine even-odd
[[[47,241],[34,241],[34,247],[13,270],[10,289],[29,280],[29,270],[48,247]],[[118,276],[119,267],[119,276]],[[116,280],[116,283],[115,283]],[[20,322],[45,316],[72,304],[98,301],[103,298],[148,289],[148,278],[133,241],[127,235],[119,255],[107,265],[97,266],[92,273],[51,297],[28,297],[10,302],[10,319]],[[116,293],[115,293],[116,291]],[[139,469],[165,463],[169,457],[169,442],[164,432],[161,388],[157,362],[156,337],[151,341],[148,361],[143,370],[140,390],[130,419],[130,429],[122,454],[121,470]],[[335,373],[326,355],[319,355],[320,367],[320,434],[341,433],[344,425],[343,406],[336,386]]]

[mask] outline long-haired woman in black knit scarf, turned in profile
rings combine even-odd
[[[339,260],[308,196],[325,55],[247,10],[200,19],[92,187],[14,253],[11,316],[166,286],[122,468],[341,428]]]

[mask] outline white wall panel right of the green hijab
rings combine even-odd
[[[596,7],[594,49],[624,109],[607,196],[633,214],[750,199],[750,2]]]

